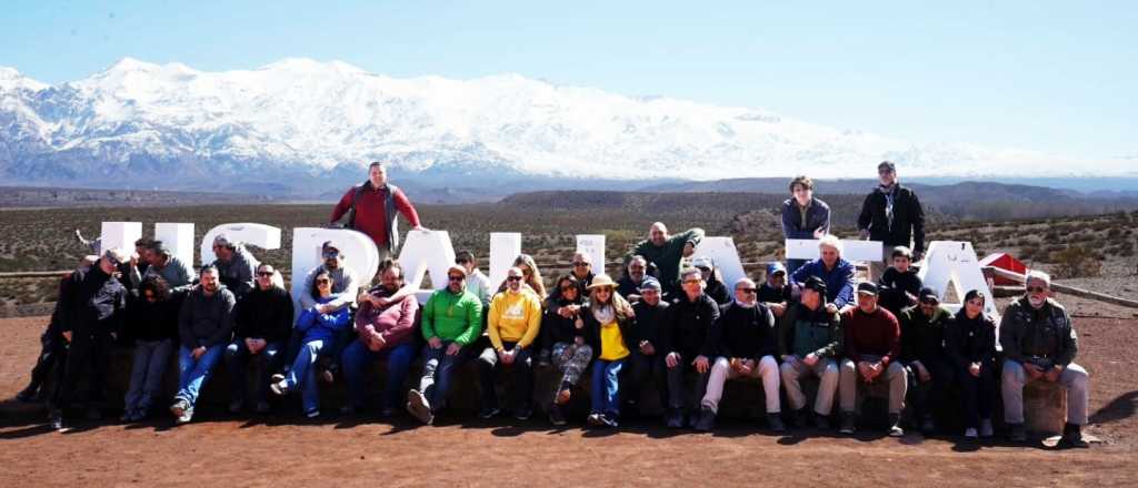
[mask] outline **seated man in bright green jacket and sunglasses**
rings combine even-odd
[[[446,404],[454,368],[470,357],[468,347],[483,333],[483,303],[467,291],[467,270],[452,266],[446,288],[435,292],[422,308],[423,376],[407,396],[407,411],[426,424]]]

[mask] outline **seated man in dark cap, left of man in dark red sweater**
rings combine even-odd
[[[830,413],[838,393],[838,361],[846,352],[846,334],[838,312],[826,308],[826,283],[811,276],[802,284],[802,297],[786,309],[778,321],[780,373],[786,388],[786,403],[794,410],[794,427],[806,427],[806,394],[803,376],[818,378],[814,399],[814,426],[830,428]]]

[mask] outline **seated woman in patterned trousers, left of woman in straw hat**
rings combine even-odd
[[[582,372],[593,359],[593,348],[585,342],[584,323],[577,327],[582,298],[578,281],[572,275],[558,278],[558,286],[550,294],[547,306],[542,314],[542,348],[551,351],[551,360],[561,380],[554,384],[553,403],[550,405],[550,422],[564,426],[562,405],[569,403],[572,387],[580,380]]]

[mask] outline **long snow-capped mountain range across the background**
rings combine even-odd
[[[308,59],[207,73],[123,59],[49,86],[0,68],[0,175],[11,183],[303,185],[360,179],[371,160],[389,161],[401,177],[470,186],[511,176],[839,178],[872,177],[882,159],[912,176],[1040,167],[1077,176],[1086,167],[1031,151],[913,144],[761,109],[629,98],[518,75],[399,79]],[[1096,173],[1133,171],[1123,159],[1114,162],[1097,162]]]

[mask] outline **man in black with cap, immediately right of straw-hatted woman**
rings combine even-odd
[[[663,294],[660,281],[652,277],[646,277],[641,281],[637,289],[640,302],[633,304],[633,337],[628,343],[635,344],[632,350],[632,370],[628,394],[625,395],[627,407],[625,411],[634,412],[628,407],[634,407],[641,399],[641,390],[649,379],[655,380],[655,389],[660,395],[660,406],[668,405],[667,368],[663,365],[663,351],[661,348],[662,329],[667,326],[668,302],[661,300]]]

